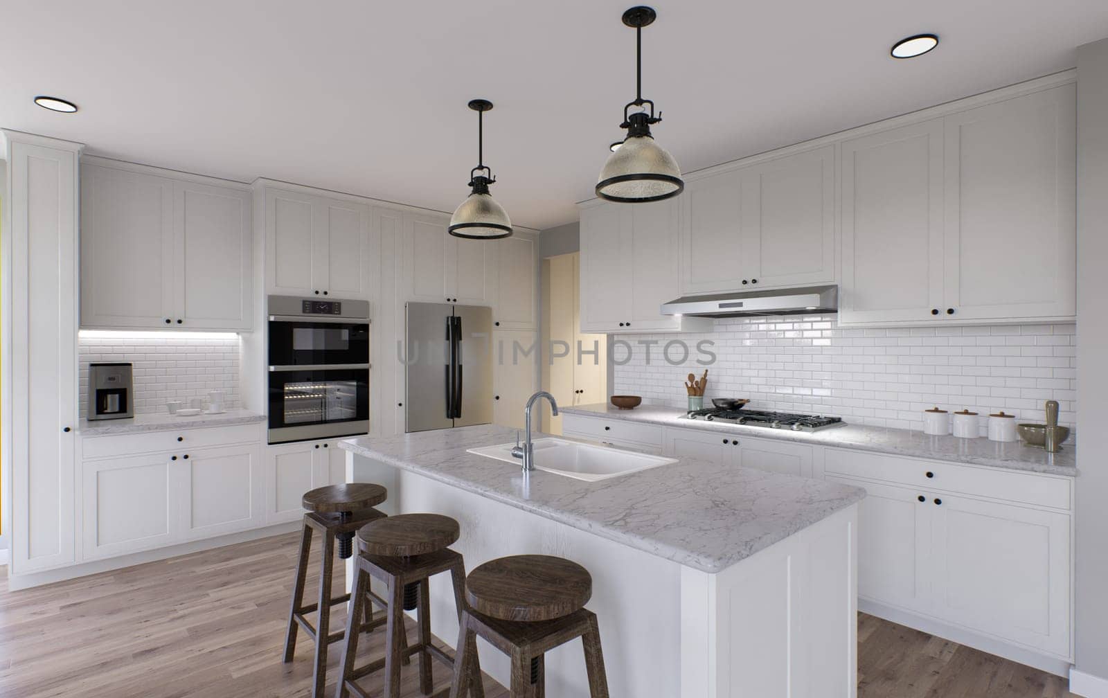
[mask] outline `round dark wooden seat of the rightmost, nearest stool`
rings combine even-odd
[[[592,596],[587,569],[550,555],[499,557],[465,577],[470,606],[501,620],[561,618],[583,608]]]

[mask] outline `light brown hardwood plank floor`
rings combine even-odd
[[[304,633],[296,659],[281,663],[298,535],[22,592],[8,591],[0,567],[0,697],[307,696],[311,643]],[[314,556],[311,569],[318,564]],[[332,627],[345,619],[336,607]],[[1076,698],[1056,676],[873,616],[859,616],[858,636],[859,698]],[[382,637],[363,636],[359,657],[381,656]],[[340,648],[331,645],[328,696]],[[416,666],[403,668],[404,698],[421,695]],[[447,669],[433,666],[435,690],[445,688]],[[379,695],[379,677],[365,685]],[[485,695],[507,691],[485,677]]]

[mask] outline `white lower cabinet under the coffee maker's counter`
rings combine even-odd
[[[83,449],[86,460],[81,463],[82,560],[137,553],[264,525],[258,430],[250,430],[254,439],[244,443],[201,449],[187,445],[195,435],[193,431],[171,434],[176,439],[181,433],[179,449],[142,455],[90,459],[90,453],[98,453],[103,445],[98,442],[112,438],[84,440],[91,443]]]

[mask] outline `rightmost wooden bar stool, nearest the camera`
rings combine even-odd
[[[500,557],[465,579],[458,633],[458,656],[450,698],[464,698],[466,685],[481,676],[476,637],[512,658],[512,698],[543,698],[543,655],[579,637],[591,698],[608,698],[596,614],[584,606],[593,578],[577,563],[550,555]]]

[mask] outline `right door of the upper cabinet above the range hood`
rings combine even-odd
[[[834,281],[834,146],[755,165],[757,224],[747,226],[757,288]]]

